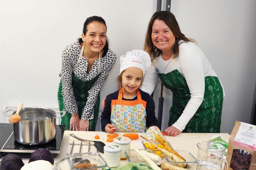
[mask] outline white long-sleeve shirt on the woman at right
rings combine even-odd
[[[182,40],[179,41],[179,43],[181,42]],[[150,68],[145,73],[141,87],[143,91],[149,94],[152,94],[154,91],[158,80],[156,67],[159,73],[164,74],[177,69],[186,79],[191,98],[179,119],[172,125],[182,131],[203,101],[205,88],[204,77],[217,77],[217,74],[212,69],[210,62],[205,57],[202,50],[192,42],[180,44],[179,55],[176,58],[163,60],[160,55],[152,62]],[[224,90],[223,95],[225,95]]]

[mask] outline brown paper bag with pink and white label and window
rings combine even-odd
[[[236,121],[228,143],[229,170],[256,170],[256,126]]]

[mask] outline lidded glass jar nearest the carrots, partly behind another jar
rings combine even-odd
[[[127,159],[124,152],[125,152],[125,150],[130,149],[131,139],[127,138],[127,137],[124,137],[124,136],[116,137],[114,139],[114,142],[115,142],[116,145],[119,145],[122,148],[120,159],[121,160]],[[127,155],[130,156],[130,151],[127,152]]]

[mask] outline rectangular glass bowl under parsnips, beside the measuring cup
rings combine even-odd
[[[176,151],[180,156],[182,156],[184,159],[186,159],[186,162],[174,162],[171,158],[169,157],[165,157],[166,161],[168,163],[174,164],[177,166],[178,163],[186,163],[188,164],[186,169],[188,170],[194,170],[197,164],[197,160],[194,157],[194,155],[192,155],[192,153],[190,153],[189,151],[186,150],[177,150]]]

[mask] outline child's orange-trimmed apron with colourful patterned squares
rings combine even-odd
[[[145,132],[146,130],[146,102],[141,99],[137,90],[137,100],[122,100],[123,88],[119,90],[118,99],[111,102],[112,125],[117,132]]]

